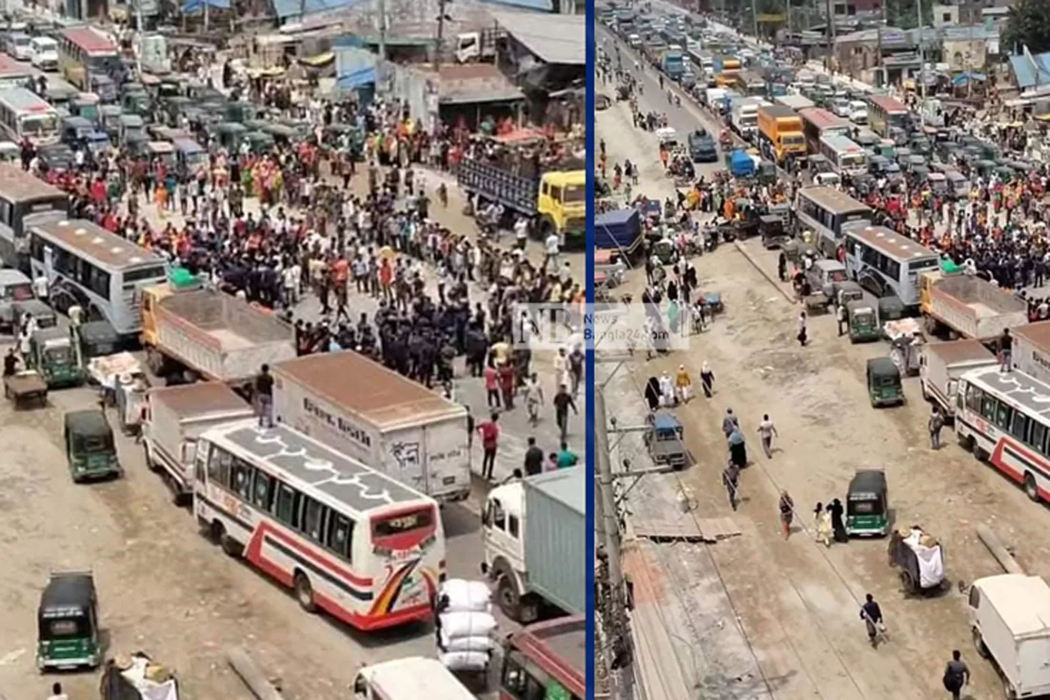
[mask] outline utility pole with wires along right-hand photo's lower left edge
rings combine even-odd
[[[633,652],[631,651],[631,631],[627,621],[627,584],[621,566],[620,523],[616,515],[616,497],[613,492],[612,465],[609,463],[609,424],[605,415],[605,395],[601,388],[594,391],[594,465],[597,473],[594,482],[597,486],[597,503],[595,504],[595,523],[601,524],[605,535],[604,560],[602,568],[608,571],[608,580],[604,581],[607,596],[606,604],[598,612],[603,614],[606,643],[602,653],[606,657],[606,669],[609,681],[613,687],[612,697],[616,700],[634,699]],[[600,585],[602,582],[600,581]],[[623,673],[613,670],[614,659],[627,659]]]

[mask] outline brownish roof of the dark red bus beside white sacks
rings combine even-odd
[[[522,628],[511,646],[536,658],[570,693],[583,697],[587,667],[587,617],[571,615]]]

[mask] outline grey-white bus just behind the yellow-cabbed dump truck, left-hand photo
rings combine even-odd
[[[143,290],[168,277],[163,257],[86,220],[34,224],[27,235],[33,277],[47,277],[57,311],[76,304],[124,338],[139,335]]]

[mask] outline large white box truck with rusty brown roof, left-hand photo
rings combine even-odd
[[[353,351],[272,370],[277,422],[441,503],[470,494],[464,406]]]

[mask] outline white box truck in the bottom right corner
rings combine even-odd
[[[1038,576],[973,581],[970,627],[978,653],[999,667],[1007,698],[1050,694],[1050,586]]]

